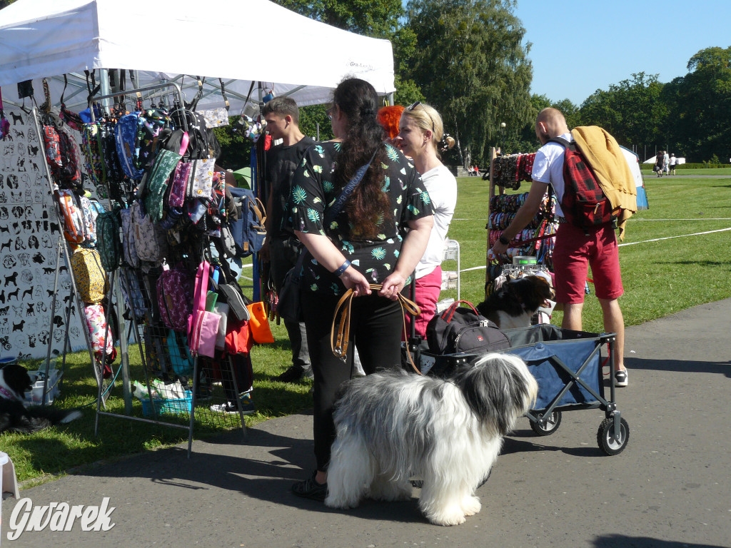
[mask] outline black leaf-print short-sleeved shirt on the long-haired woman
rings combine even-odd
[[[383,191],[391,202],[391,221],[382,221],[374,240],[351,235],[346,208],[342,208],[330,227],[324,227],[325,210],[341,191],[333,185],[333,172],[340,153],[340,142],[321,142],[308,148],[292,179],[292,226],[300,232],[327,235],[353,267],[370,283],[381,283],[395,269],[408,222],[433,215],[429,193],[409,159],[384,143],[388,161]],[[376,160],[377,161],[377,160]],[[343,283],[308,255],[303,272],[303,288],[327,294],[342,294]]]

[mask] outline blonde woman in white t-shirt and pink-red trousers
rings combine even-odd
[[[455,140],[444,134],[442,116],[433,107],[417,101],[401,114],[396,142],[420,172],[434,208],[434,226],[425,254],[416,267],[415,300],[421,315],[417,316],[415,327],[417,335],[425,338],[426,325],[436,313],[442,289],[444,240],[457,203],[457,180],[442,164],[439,153],[452,148]]]

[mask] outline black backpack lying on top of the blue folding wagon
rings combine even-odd
[[[469,308],[461,307],[463,302]],[[471,302],[458,300],[426,326],[426,340],[433,354],[492,352],[510,348],[510,341],[495,322],[488,320]]]

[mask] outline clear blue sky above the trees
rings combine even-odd
[[[580,106],[597,89],[688,73],[705,47],[731,46],[731,0],[518,0],[515,15],[531,42],[531,93]]]

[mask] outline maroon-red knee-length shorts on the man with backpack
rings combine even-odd
[[[619,272],[619,248],[611,225],[583,229],[562,223],[556,232],[553,269],[556,271],[556,302],[584,302],[584,285],[591,266],[594,292],[599,299],[616,299],[624,293]]]

